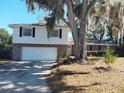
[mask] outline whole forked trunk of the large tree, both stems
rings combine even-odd
[[[75,44],[75,58],[77,60],[84,61],[87,57],[87,47],[86,47],[86,31],[87,31],[87,16],[89,11],[92,9],[93,5],[97,0],[92,0],[92,2],[88,5],[88,0],[82,1],[82,15],[81,15],[81,23],[80,29],[78,30],[78,26],[75,19],[75,14],[73,11],[72,0],[65,0],[67,4],[68,11],[68,20],[70,24],[70,28],[72,30],[72,36]]]

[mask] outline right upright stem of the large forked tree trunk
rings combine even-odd
[[[81,52],[80,52],[80,58],[84,62],[87,57],[87,21],[88,21],[88,15],[87,15],[87,7],[88,7],[88,0],[83,1],[82,5],[82,16],[81,16],[81,23],[80,23],[80,30],[79,30],[79,42],[81,45]]]

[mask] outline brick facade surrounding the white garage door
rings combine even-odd
[[[69,55],[68,45],[13,44],[13,60],[21,60],[22,47],[56,47],[57,58]]]

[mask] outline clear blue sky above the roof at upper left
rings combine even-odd
[[[35,23],[46,15],[45,11],[28,11],[25,0],[0,0],[0,28],[12,34],[9,24]]]

